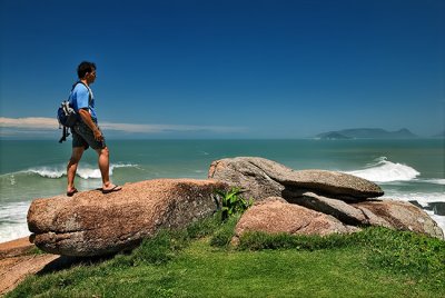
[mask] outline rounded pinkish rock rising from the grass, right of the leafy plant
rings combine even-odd
[[[256,202],[241,216],[235,237],[239,238],[247,231],[326,236],[358,230],[359,228],[346,226],[332,216],[288,203],[283,198],[270,197]]]

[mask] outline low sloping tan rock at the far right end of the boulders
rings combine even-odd
[[[409,230],[444,239],[441,227],[424,210],[411,202],[387,199],[364,201],[352,206],[364,212],[370,226]]]

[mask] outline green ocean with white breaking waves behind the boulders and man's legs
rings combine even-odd
[[[409,140],[107,140],[115,183],[158,178],[206,179],[211,161],[263,157],[295,170],[325,169],[379,185],[385,198],[417,201],[445,229],[445,146]],[[36,198],[66,192],[71,142],[0,140],[0,242],[29,235],[27,212]],[[101,186],[97,155],[87,150],[76,187]]]

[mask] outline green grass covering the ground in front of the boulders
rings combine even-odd
[[[161,231],[128,255],[32,276],[8,297],[445,297],[445,242],[368,228],[330,237],[249,234],[237,218]]]

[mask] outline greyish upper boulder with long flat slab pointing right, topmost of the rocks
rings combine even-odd
[[[312,191],[347,201],[362,201],[383,196],[383,190],[368,180],[353,175],[326,170],[293,170],[258,157],[216,160],[208,178],[247,190],[246,196],[261,200],[270,196],[285,199]]]

